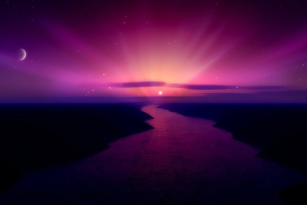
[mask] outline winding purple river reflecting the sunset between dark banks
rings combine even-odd
[[[258,150],[155,105],[153,130],[71,165],[26,175],[0,204],[282,204],[278,191],[305,178],[257,158]]]

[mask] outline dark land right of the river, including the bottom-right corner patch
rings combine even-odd
[[[257,156],[307,174],[306,105],[163,104],[159,108],[212,119],[214,127],[260,148]],[[287,204],[307,204],[306,194],[304,182],[284,188],[280,198]]]

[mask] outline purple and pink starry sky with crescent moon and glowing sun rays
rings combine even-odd
[[[0,101],[307,102],[306,10],[293,0],[1,1]]]

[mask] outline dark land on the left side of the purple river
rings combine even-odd
[[[152,129],[142,106],[1,105],[0,194],[25,171],[76,160]]]

